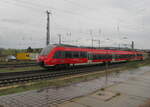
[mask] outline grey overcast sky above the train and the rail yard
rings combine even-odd
[[[0,0],[0,47],[44,47],[46,10],[51,43],[149,49],[150,0]]]

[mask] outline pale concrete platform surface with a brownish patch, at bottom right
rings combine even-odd
[[[150,107],[150,71],[57,107]],[[144,106],[145,105],[145,106]]]

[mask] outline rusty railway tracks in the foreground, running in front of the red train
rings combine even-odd
[[[120,67],[125,65],[125,63],[116,63],[109,65],[108,69],[114,67]],[[94,66],[85,66],[85,67],[76,67],[70,68],[67,70],[56,70],[50,69],[47,70],[37,70],[37,71],[24,71],[24,72],[11,72],[11,73],[0,73],[0,87],[10,86],[18,83],[26,83],[37,80],[53,79],[56,77],[62,77],[67,75],[83,74],[95,71],[105,70],[106,66],[104,65],[94,65]],[[52,72],[51,72],[52,71]]]

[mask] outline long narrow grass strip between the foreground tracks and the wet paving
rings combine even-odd
[[[135,69],[137,67],[141,67],[145,65],[150,65],[150,59],[147,59],[145,61],[128,62],[124,64],[124,66],[122,67],[109,69],[108,72],[109,73],[120,72],[120,71],[127,70],[127,69]],[[96,79],[104,75],[105,75],[105,71],[102,71],[102,72],[93,72],[93,73],[87,73],[87,74],[82,74],[82,75],[77,74],[74,76],[65,76],[62,78],[56,78],[52,80],[41,80],[37,82],[31,82],[27,84],[18,85],[12,88],[0,89],[0,96],[12,94],[12,93],[24,92],[28,90],[42,89],[48,86],[55,86],[55,87],[66,86],[72,83],[79,83],[83,81]]]

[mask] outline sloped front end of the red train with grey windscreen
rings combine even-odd
[[[42,67],[47,66],[47,62],[50,60],[51,51],[53,50],[53,48],[54,48],[54,45],[48,45],[42,49],[41,53],[39,54],[37,58],[38,65]]]

